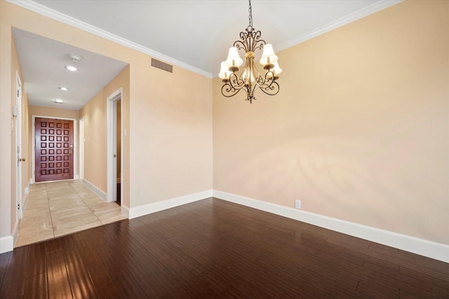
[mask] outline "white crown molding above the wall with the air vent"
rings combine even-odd
[[[199,69],[197,67],[192,67],[192,65],[190,65],[190,64],[186,64],[179,60],[175,60],[175,58],[173,58],[173,57],[169,57],[169,56],[159,53],[155,50],[144,47],[138,43],[134,43],[133,41],[128,41],[128,39],[123,39],[120,36],[117,36],[115,34],[107,32],[106,30],[100,29],[100,28],[90,25],[86,22],[82,22],[78,19],[72,18],[69,15],[65,15],[64,13],[60,13],[58,11],[55,11],[54,9],[48,8],[46,6],[36,3],[34,1],[30,1],[30,0],[6,0],[6,1],[10,2],[11,4],[21,6],[22,8],[26,8],[29,11],[34,11],[34,13],[39,13],[40,15],[44,15],[53,20],[57,20],[59,22],[65,23],[67,25],[76,27],[78,29],[89,32],[91,34],[95,34],[97,36],[102,37],[103,39],[107,39],[109,41],[114,41],[114,43],[119,43],[119,44],[126,46],[128,48],[131,48],[133,50],[138,50],[139,52],[145,53],[145,54],[155,57],[159,60],[163,60],[170,64],[175,64],[177,67],[182,67],[183,69],[193,71],[194,73],[200,74],[201,76],[205,76],[207,78],[213,78],[213,75],[210,74],[208,71],[203,71],[202,69]]]

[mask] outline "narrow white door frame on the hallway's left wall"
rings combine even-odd
[[[15,71],[15,162],[17,163],[15,171],[15,206],[16,219],[22,219],[22,82],[19,72]]]

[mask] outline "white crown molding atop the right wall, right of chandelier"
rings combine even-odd
[[[295,37],[295,39],[290,39],[290,41],[286,41],[284,43],[280,43],[279,45],[275,45],[274,48],[276,52],[285,50],[286,48],[293,47],[298,43],[302,43],[309,39],[313,39],[316,36],[325,34],[326,32],[330,32],[333,29],[337,29],[338,27],[347,25],[350,22],[354,22],[358,19],[365,18],[366,16],[371,15],[373,13],[377,13],[377,11],[382,11],[382,9],[394,6],[395,4],[401,3],[402,1],[403,0],[376,1],[375,4],[362,8],[361,10],[356,11],[354,13],[350,13],[349,15],[345,15],[343,18],[334,20],[333,22],[330,22],[319,28],[313,29],[311,32],[307,32],[306,34],[302,34],[300,36]]]

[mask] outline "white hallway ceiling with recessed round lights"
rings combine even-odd
[[[127,65],[17,28],[13,35],[31,105],[79,110]],[[83,60],[72,62],[69,54],[80,55]],[[67,71],[67,65],[78,71]],[[64,103],[57,104],[54,99]]]

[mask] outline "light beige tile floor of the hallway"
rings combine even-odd
[[[126,219],[81,180],[35,183],[29,187],[16,247]]]

